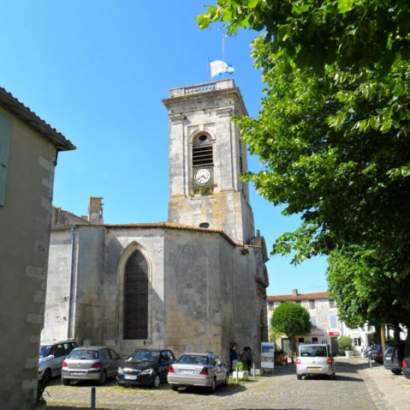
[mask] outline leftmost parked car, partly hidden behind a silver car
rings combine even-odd
[[[46,386],[51,378],[60,376],[64,359],[76,347],[78,343],[74,340],[40,345],[38,378],[42,385]]]

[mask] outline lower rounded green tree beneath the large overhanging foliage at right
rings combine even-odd
[[[350,327],[408,324],[410,284],[397,281],[388,260],[358,246],[333,251],[329,258],[329,289],[338,303],[339,317]],[[398,336],[398,334],[397,334]]]

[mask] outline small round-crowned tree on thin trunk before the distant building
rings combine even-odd
[[[310,332],[309,312],[297,303],[281,303],[272,313],[271,325],[274,332],[289,338],[292,353],[295,353],[296,336]]]

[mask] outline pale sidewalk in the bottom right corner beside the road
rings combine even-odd
[[[410,379],[395,375],[382,365],[369,368],[364,359],[353,359],[362,364],[359,370],[378,409],[409,410]]]

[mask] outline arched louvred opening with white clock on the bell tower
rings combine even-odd
[[[199,134],[192,141],[192,175],[194,193],[207,195],[213,192],[214,155],[208,134]]]

